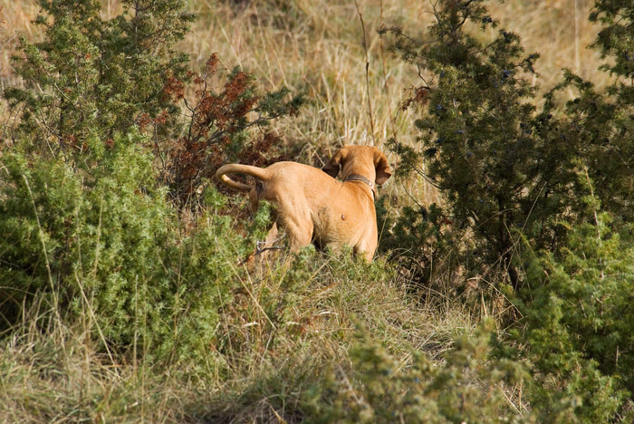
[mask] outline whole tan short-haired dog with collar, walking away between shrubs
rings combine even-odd
[[[341,179],[337,177],[341,169]],[[254,184],[237,182],[227,174],[253,176]],[[275,209],[275,224],[266,237],[271,244],[278,227],[289,237],[293,251],[314,243],[337,249],[351,246],[355,254],[372,260],[377,248],[376,186],[392,175],[379,149],[344,146],[321,169],[297,162],[277,162],[268,168],[230,164],[217,170],[226,186],[249,191],[257,210],[261,199]]]

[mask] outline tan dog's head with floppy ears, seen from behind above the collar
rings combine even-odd
[[[381,185],[392,176],[388,158],[377,148],[369,146],[344,146],[324,165],[324,172],[336,178],[341,170],[341,178],[359,174],[374,178]]]

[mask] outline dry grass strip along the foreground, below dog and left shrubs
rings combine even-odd
[[[289,279],[293,272],[285,262],[245,281],[248,294],[235,294],[223,309],[224,365],[188,379],[178,368],[96,352],[91,323],[68,326],[53,317],[38,328],[48,313],[36,305],[30,314],[37,319],[0,343],[0,423],[297,422],[303,391],[319,373],[350,366],[355,320],[402,366],[412,348],[433,358],[473,330],[468,313],[449,303],[417,306],[399,278],[372,277],[349,258],[312,257],[311,277]]]

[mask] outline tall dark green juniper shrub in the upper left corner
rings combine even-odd
[[[187,55],[175,44],[193,20],[179,0],[122,2],[122,13],[104,21],[101,2],[41,0],[34,24],[41,43],[21,40],[15,72],[25,88],[5,99],[21,111],[12,137],[28,136],[40,153],[72,158],[84,142],[112,139],[139,123],[142,113],[174,119],[178,108],[162,95],[169,77],[185,77]]]

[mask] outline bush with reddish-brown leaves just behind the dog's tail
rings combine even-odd
[[[164,152],[164,173],[174,198],[180,203],[196,193],[197,188],[226,162],[266,166],[283,159],[274,157],[279,138],[269,129],[270,121],[284,115],[296,115],[302,95],[286,100],[287,89],[261,94],[252,74],[235,67],[231,72],[220,67],[212,54],[202,73],[190,73],[192,87],[174,77],[168,78],[163,95],[186,108],[186,124],[178,138],[168,141]],[[215,85],[220,88],[215,89]],[[187,92],[193,92],[187,96]],[[144,117],[141,126],[156,119]],[[259,130],[261,137],[249,137],[249,130]]]

